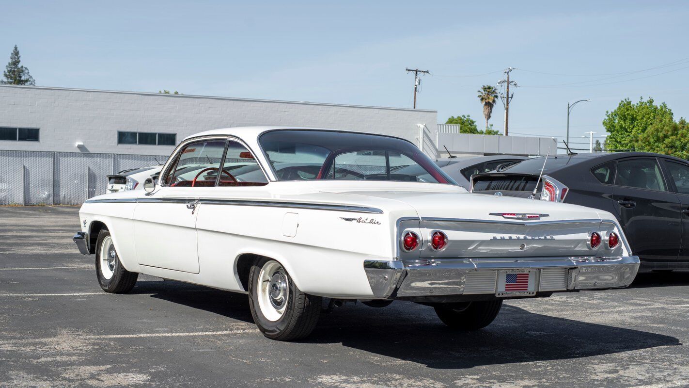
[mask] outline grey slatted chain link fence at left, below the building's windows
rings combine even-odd
[[[152,155],[0,150],[0,205],[81,205],[105,194],[107,175],[166,160],[167,156]]]

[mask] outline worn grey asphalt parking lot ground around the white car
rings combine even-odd
[[[473,333],[431,307],[347,304],[280,343],[242,294],[152,276],[105,294],[77,212],[0,207],[0,387],[689,386],[689,272],[509,301]]]

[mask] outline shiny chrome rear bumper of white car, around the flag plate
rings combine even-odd
[[[626,287],[639,270],[637,256],[449,258],[364,261],[376,298],[495,294],[502,269],[538,269],[535,292]]]

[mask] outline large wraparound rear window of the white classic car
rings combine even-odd
[[[407,181],[451,183],[413,144],[373,134],[276,130],[259,139],[280,181]]]

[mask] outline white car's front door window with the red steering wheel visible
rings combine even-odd
[[[224,140],[211,140],[186,145],[165,177],[165,184],[171,187],[215,186],[226,143]]]

